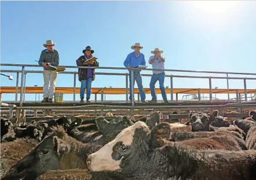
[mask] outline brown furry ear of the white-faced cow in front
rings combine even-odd
[[[164,139],[169,139],[171,134],[171,126],[169,123],[163,122],[157,124],[151,130],[151,147],[159,148],[164,145]]]

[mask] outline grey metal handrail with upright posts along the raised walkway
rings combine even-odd
[[[1,72],[16,72],[17,73],[17,79],[16,79],[16,95],[15,95],[15,101],[17,102],[17,94],[18,94],[18,88],[19,88],[19,73],[21,73],[21,91],[20,91],[20,107],[23,106],[23,94],[25,94],[25,75],[28,73],[42,73],[42,71],[25,71],[25,67],[40,67],[40,65],[33,65],[33,64],[0,64],[1,66],[6,67],[21,67],[21,71],[19,70],[1,70]],[[127,68],[120,68],[120,67],[78,67],[78,66],[61,66],[65,68],[95,68],[95,69],[116,69],[116,70],[127,70]],[[131,79],[134,79],[134,70],[137,70],[137,68],[131,68]],[[191,73],[207,73],[207,74],[224,74],[226,77],[219,77],[219,76],[184,76],[184,75],[166,75],[166,77],[170,78],[170,95],[171,95],[171,102],[173,102],[173,78],[204,78],[209,79],[209,90],[210,90],[210,102],[213,101],[213,93],[212,93],[212,84],[211,79],[226,79],[227,83],[227,91],[228,91],[228,102],[230,101],[229,98],[229,79],[243,79],[244,82],[244,99],[247,101],[247,87],[246,87],[246,80],[256,80],[255,78],[239,78],[239,77],[229,77],[229,75],[254,75],[255,73],[242,73],[242,72],[219,72],[219,71],[192,71],[192,70],[180,70],[180,69],[152,69],[152,68],[141,68],[141,71],[167,71],[167,72],[191,72]],[[59,74],[74,74],[74,102],[75,102],[75,87],[76,87],[76,74],[78,72],[58,72]],[[107,72],[96,72],[96,75],[124,75],[126,76],[126,102],[128,102],[128,90],[129,90],[129,74],[128,73],[107,73]],[[142,76],[151,76],[149,74],[141,74]],[[103,96],[103,93],[101,93],[101,96]],[[199,101],[200,98],[200,89],[198,89],[198,98]],[[239,95],[236,92],[237,102],[239,102]],[[131,109],[134,109],[135,107],[135,101],[134,101],[134,81],[131,80]],[[103,101],[103,98],[101,98],[101,101]],[[87,105],[86,105],[87,106]]]

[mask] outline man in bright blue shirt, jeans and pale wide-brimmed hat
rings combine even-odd
[[[137,68],[139,65],[146,65],[144,54],[140,52],[143,47],[140,45],[140,43],[135,43],[133,46],[131,46],[131,49],[134,50],[134,52],[128,54],[126,57],[125,62],[123,62],[123,65],[125,65],[126,68],[129,69],[129,83],[130,83],[130,101],[131,101],[131,68]],[[133,79],[133,85],[136,80],[138,90],[140,92],[141,102],[147,102],[145,100],[146,95],[143,91],[142,86],[142,78],[140,74],[140,69],[134,70],[134,79]]]

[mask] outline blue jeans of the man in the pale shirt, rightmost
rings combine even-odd
[[[156,100],[155,84],[158,80],[159,80],[159,86],[160,86],[160,90],[161,90],[161,93],[162,93],[163,100],[167,100],[165,89],[164,89],[164,86],[163,86],[164,76],[165,76],[164,72],[162,72],[160,74],[153,74],[152,75],[151,81],[150,81],[150,84],[149,84],[152,100]]]

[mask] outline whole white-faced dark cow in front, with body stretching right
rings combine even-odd
[[[137,122],[113,141],[87,157],[90,171],[106,172],[118,179],[209,179],[253,180],[256,151],[188,150],[164,145],[170,126],[160,123],[150,131]]]

